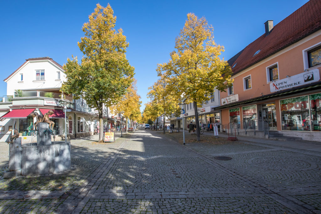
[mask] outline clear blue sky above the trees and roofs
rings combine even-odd
[[[214,39],[225,47],[228,60],[264,34],[264,22],[276,25],[307,0],[269,1],[3,1],[1,2],[0,79],[4,80],[27,58],[49,56],[63,65],[71,55],[82,57],[77,42],[83,36],[97,3],[109,3],[116,28],[127,37],[127,59],[135,67],[138,94],[148,102],[148,87],[157,81],[158,63],[168,62],[186,14],[205,17]],[[6,83],[0,81],[0,96]]]

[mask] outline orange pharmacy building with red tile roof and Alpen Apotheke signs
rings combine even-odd
[[[269,130],[320,141],[320,0],[310,0],[275,26],[266,21],[265,34],[228,63],[234,83],[220,92],[221,106],[215,108],[221,110],[223,131],[235,126],[243,134]]]

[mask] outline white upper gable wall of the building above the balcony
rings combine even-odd
[[[36,70],[45,70],[45,80],[36,80]],[[60,80],[57,79],[57,72],[60,72]],[[23,74],[23,81],[20,74]],[[63,70],[49,60],[28,61],[6,81],[7,95],[13,95],[15,89],[60,88],[65,79]]]

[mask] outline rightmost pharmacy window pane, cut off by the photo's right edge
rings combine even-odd
[[[321,93],[309,96],[311,112],[311,130],[321,131]]]

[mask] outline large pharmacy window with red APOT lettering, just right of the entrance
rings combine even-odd
[[[308,96],[280,100],[282,130],[310,131]]]

